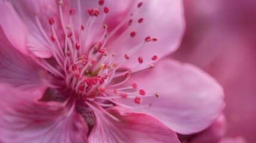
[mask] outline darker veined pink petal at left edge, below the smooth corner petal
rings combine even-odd
[[[46,71],[30,57],[18,52],[5,37],[1,28],[0,45],[0,82],[11,83],[30,91],[46,88],[48,73],[45,73]]]

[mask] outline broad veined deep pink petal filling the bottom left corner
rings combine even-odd
[[[0,84],[0,141],[87,142],[87,125],[76,111],[58,102]]]

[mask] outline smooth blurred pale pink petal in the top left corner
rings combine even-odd
[[[4,33],[11,41],[11,44],[14,45],[18,51],[27,55],[28,50],[26,47],[26,27],[23,25],[20,18],[16,15],[13,8],[4,1],[0,1],[0,13],[0,29],[4,30]]]

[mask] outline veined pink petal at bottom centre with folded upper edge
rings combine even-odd
[[[179,142],[177,135],[154,117],[132,113],[122,107],[111,107],[107,111],[120,121],[95,113],[97,123],[88,138],[90,143]]]

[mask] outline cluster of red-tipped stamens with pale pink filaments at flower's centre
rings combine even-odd
[[[100,0],[98,4],[103,5],[104,1]],[[142,2],[139,3],[136,9],[140,8],[142,4]],[[66,82],[66,88],[72,89],[80,97],[83,97],[88,101],[95,101],[96,104],[106,107],[112,106],[113,104],[127,107],[127,105],[123,105],[115,100],[118,98],[133,98],[135,103],[140,104],[141,97],[159,96],[157,92],[147,93],[143,89],[138,89],[136,83],[132,83],[132,85],[127,87],[121,86],[127,82],[132,73],[154,67],[154,64],[144,63],[156,60],[158,58],[157,55],[152,55],[152,58],[146,60],[143,60],[143,57],[140,56],[138,57],[138,63],[135,64],[134,68],[127,71],[118,70],[122,65],[125,64],[126,61],[130,59],[130,56],[138,51],[138,49],[143,47],[145,43],[155,42],[158,41],[158,39],[147,36],[144,41],[138,43],[138,45],[131,48],[127,53],[124,53],[124,55],[116,55],[115,52],[109,52],[106,48],[107,41],[112,38],[112,36],[122,26],[124,26],[124,24],[128,24],[128,28],[123,32],[126,35],[121,35],[121,37],[135,37],[136,32],[129,32],[131,31],[129,26],[136,24],[133,23],[134,20],[132,20],[132,15],[136,9],[124,20],[124,22],[116,26],[116,28],[110,33],[107,31],[107,25],[101,24],[101,27],[103,27],[103,32],[101,32],[103,33],[102,38],[90,48],[88,53],[85,54],[83,53],[84,51],[82,48],[87,48],[87,32],[90,30],[91,26],[94,25],[95,18],[100,15],[100,10],[98,8],[89,8],[87,10],[90,18],[88,18],[86,24],[80,23],[81,27],[79,27],[79,34],[78,36],[75,36],[72,17],[77,13],[77,11],[74,8],[69,10],[70,21],[67,24],[67,22],[64,21],[63,10],[61,9],[61,7],[63,7],[63,1],[59,2],[59,7],[61,26],[63,27],[63,32],[65,34],[64,47],[61,46],[60,39],[58,39],[56,35],[54,18],[48,19],[48,23],[51,26],[51,33],[50,36],[47,36],[48,33],[42,29],[38,15],[35,15],[35,17],[39,29],[45,38],[48,39],[48,42],[50,42],[54,47],[51,49],[53,52],[53,57],[57,61],[58,65],[64,69],[64,74],[55,69],[51,64],[47,63],[47,61],[44,61],[44,67],[55,76],[62,77]],[[109,8],[103,7],[103,11],[104,16],[101,17],[103,18],[101,21],[104,21],[106,14],[109,13]],[[78,13],[81,15],[82,11],[78,10]],[[142,22],[143,18],[139,18],[137,24]],[[114,84],[112,83],[112,80],[115,78],[120,78],[123,80]],[[98,100],[108,100],[113,102],[113,104],[103,104],[101,102],[97,102]]]

